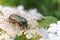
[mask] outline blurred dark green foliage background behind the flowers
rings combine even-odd
[[[24,5],[25,9],[37,8],[44,16],[54,16],[60,20],[60,0],[0,0],[7,6]]]

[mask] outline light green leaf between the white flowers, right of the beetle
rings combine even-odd
[[[58,19],[56,19],[55,17],[52,16],[46,16],[45,19],[38,21],[40,27],[43,27],[45,29],[49,28],[49,25],[51,23],[56,23],[58,21]]]

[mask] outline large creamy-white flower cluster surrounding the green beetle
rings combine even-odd
[[[42,16],[37,9],[30,9],[30,10],[24,10],[23,5],[20,5],[18,7],[6,7],[0,5],[0,28],[6,30],[6,35],[3,37],[7,40],[10,39],[10,37],[15,37],[15,35],[22,35],[24,30],[20,30],[18,25],[13,25],[8,22],[8,18],[11,14],[17,14],[27,19],[28,23],[31,24],[31,27],[33,27],[31,30],[27,30],[26,38],[31,39],[33,38],[33,35],[36,36],[36,33],[39,33],[39,29],[34,29],[35,27],[38,27],[37,19],[42,19],[44,16]],[[45,34],[44,34],[45,35]]]

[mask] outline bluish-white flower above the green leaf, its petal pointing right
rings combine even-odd
[[[30,9],[29,14],[32,19],[41,19],[43,16],[37,11],[37,9]]]

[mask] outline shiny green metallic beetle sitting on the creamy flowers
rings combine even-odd
[[[9,16],[9,21],[12,23],[17,23],[21,27],[28,26],[27,20],[24,17],[16,15],[16,14],[11,14]]]

